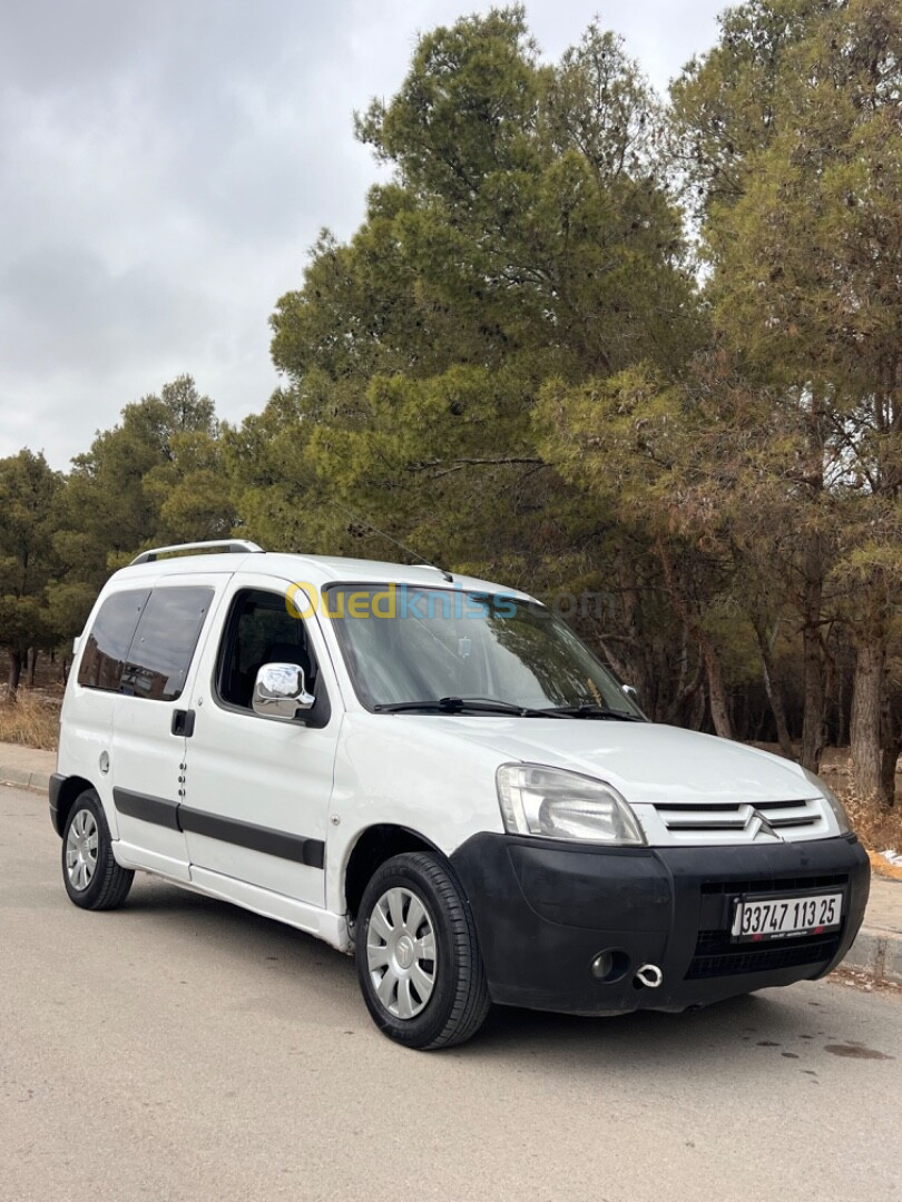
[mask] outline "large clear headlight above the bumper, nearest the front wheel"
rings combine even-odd
[[[538,763],[505,763],[495,775],[509,834],[578,839],[616,847],[645,845],[636,816],[601,780]]]

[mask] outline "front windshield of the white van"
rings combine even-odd
[[[471,700],[532,710],[641,710],[544,606],[502,594],[333,585],[326,608],[368,709]]]

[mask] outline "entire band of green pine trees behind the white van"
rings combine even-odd
[[[597,24],[558,63],[522,6],[425,34],[356,118],[391,178],[275,305],[283,386],[233,427],[188,376],[126,405],[28,588],[0,541],[4,645],[152,545],[393,538],[578,594],[654,716],[791,725],[815,766],[856,649],[900,662],[901,63],[898,0],[730,8],[667,105]]]

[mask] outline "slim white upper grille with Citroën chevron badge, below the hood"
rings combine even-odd
[[[651,807],[667,843],[776,843],[830,833],[820,798],[779,802],[659,802]]]

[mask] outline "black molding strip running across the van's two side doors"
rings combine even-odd
[[[209,839],[221,839],[222,843],[232,843],[249,851],[262,851],[267,856],[290,859],[308,868],[322,869],[326,863],[326,844],[322,839],[307,839],[299,834],[255,826],[253,822],[192,810],[189,805],[135,793],[130,789],[114,789],[113,803],[126,817],[153,822],[154,826],[170,831],[189,831]]]

